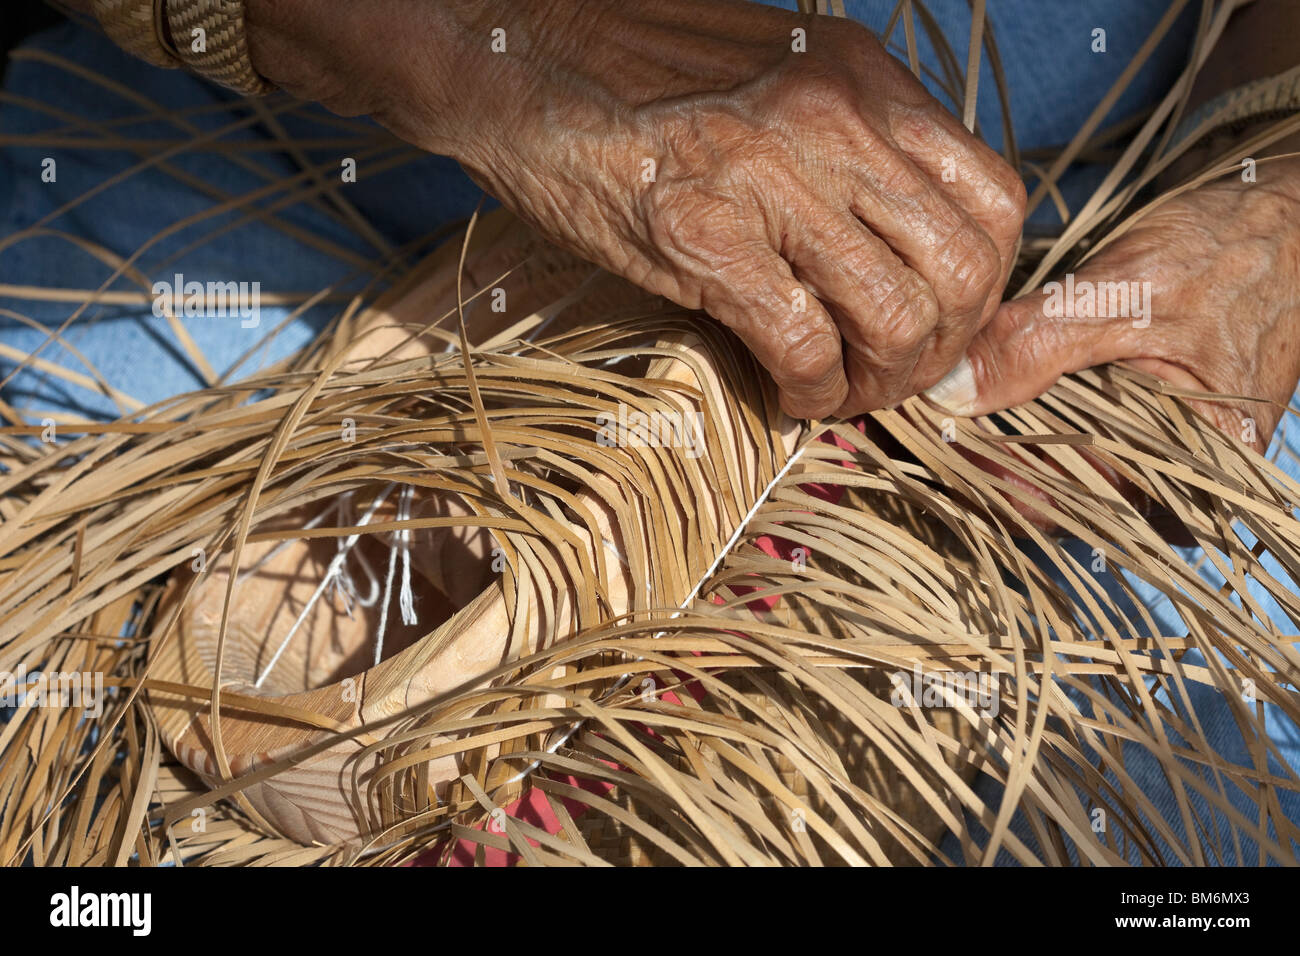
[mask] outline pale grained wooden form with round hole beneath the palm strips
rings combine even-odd
[[[477,278],[485,281],[512,252],[517,260],[521,248],[526,250],[530,242],[530,237],[504,213],[489,216],[482,233],[482,241],[493,251],[471,260],[469,267],[478,273]],[[555,291],[572,289],[592,273],[590,267],[580,267],[576,260],[562,261],[569,263],[569,268],[558,271],[542,265],[546,274],[538,276],[534,267],[533,273],[520,278],[532,294],[536,295],[541,289],[546,295],[554,295]],[[398,297],[390,298],[384,308],[358,323],[351,334],[359,345],[351,355],[365,358],[387,354],[385,360],[394,360],[416,356],[426,350],[428,345],[408,341],[410,333],[403,324],[438,316],[455,307],[455,260],[443,250],[419,269],[417,281]],[[558,285],[559,290],[546,289],[547,285]],[[500,317],[480,308],[472,320],[476,323],[474,339],[484,341],[495,332],[491,324],[494,320],[499,323]],[[718,394],[722,386],[711,371],[712,359],[701,349],[698,339],[677,336],[658,343],[647,341],[647,345],[658,345],[659,349],[672,350],[681,356],[680,360],[654,359],[650,376],[680,382],[684,386],[682,395],[712,392],[716,399],[722,398]],[[697,377],[697,369],[705,371],[706,380]],[[684,398],[682,405],[689,406],[690,411],[701,407],[698,399],[690,402]],[[790,425],[786,429],[786,454],[796,434],[793,423]],[[725,441],[734,446],[737,440],[731,425],[718,423],[718,427]],[[754,450],[732,447],[731,455],[751,459]],[[624,535],[620,533],[619,519],[607,502],[627,494],[628,489],[619,488],[610,475],[594,476],[592,488],[578,492],[580,501],[595,516],[604,538],[593,545],[586,528],[573,527],[573,533],[582,541],[593,562],[597,546],[621,546]],[[367,503],[356,502],[358,510]],[[438,506],[443,510],[458,507],[455,501],[442,501]],[[706,501],[705,507],[710,520],[720,520],[710,502]],[[320,509],[317,514],[318,511]],[[467,511],[460,506],[459,514]],[[624,520],[629,514],[634,515],[634,520],[651,520],[647,515],[662,519],[660,512],[667,512],[671,519],[685,520],[671,503],[662,502],[650,502],[623,514]],[[307,520],[309,516],[299,515],[298,519]],[[393,518],[394,507],[386,503],[377,512],[376,520]],[[291,522],[281,524],[292,527]],[[369,564],[380,568],[382,578],[382,568],[386,567],[382,541],[363,541],[358,544],[358,549],[367,549]],[[369,661],[365,656],[373,653],[380,609],[372,606],[363,613],[363,609],[352,607],[350,614],[348,600],[337,588],[330,589],[312,606],[261,687],[255,685],[257,675],[265,670],[283,635],[289,633],[298,617],[304,613],[303,609],[317,589],[337,545],[335,538],[295,538],[281,544],[278,549],[270,542],[247,545],[240,559],[240,580],[234,593],[221,670],[221,737],[231,775],[243,777],[277,760],[298,754],[320,741],[330,732],[329,728],[364,727],[455,688],[472,685],[507,657],[538,649],[547,640],[546,635],[554,639],[555,635],[572,630],[572,598],[569,594],[556,593],[555,619],[547,623],[543,620],[545,615],[530,613],[525,627],[525,646],[511,653],[507,646],[511,626],[504,585],[499,575],[484,574],[488,541],[482,532],[463,536],[459,542],[463,546],[460,554],[473,557],[458,562],[456,567],[442,566],[439,555],[446,554],[443,548],[425,545],[416,549],[412,555],[419,578],[415,589],[421,594],[421,605],[430,604],[430,597],[452,605],[468,600],[464,607],[432,633],[413,643],[410,643],[411,635],[407,633],[407,645],[402,646],[403,641],[394,633],[394,615],[390,614],[389,641],[393,643],[386,646],[394,648],[396,653],[367,667]],[[629,607],[629,572],[618,562],[611,561],[606,566],[611,570],[602,585],[608,596],[610,610],[619,615]],[[488,581],[486,587],[481,585],[484,580]],[[190,589],[190,576],[176,576],[166,604],[172,606],[183,600],[183,607],[173,637],[153,643],[156,652],[151,675],[155,679],[205,691],[212,687],[228,581],[229,557],[222,557],[192,588],[188,597],[186,592]],[[477,591],[472,600],[467,598],[467,584],[471,587],[469,593]],[[675,600],[681,597],[684,596]],[[162,619],[168,617],[161,615]],[[240,696],[273,700],[286,713],[309,715],[309,722],[272,719],[265,714],[240,710]],[[222,774],[213,748],[207,695],[152,691],[150,700],[166,747],[209,786],[220,786]],[[365,792],[367,773],[376,766],[373,754],[364,761],[361,758],[364,745],[372,741],[373,737],[363,735],[337,743],[270,779],[248,786],[243,790],[243,796],[266,826],[302,843],[354,842],[370,836],[393,822],[390,813],[386,816],[376,806],[365,805],[367,799],[359,799]],[[430,763],[429,783],[436,792],[441,792],[447,782],[462,773],[455,758],[443,757]]]

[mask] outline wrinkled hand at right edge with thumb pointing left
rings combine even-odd
[[[1300,161],[1261,163],[1153,208],[1074,273],[1076,304],[1108,282],[1149,282],[1144,316],[1054,317],[1045,290],[1004,303],[967,362],[931,390],[982,415],[1026,402],[1066,372],[1127,362],[1180,388],[1286,405],[1300,378]],[[1050,290],[1054,293],[1056,290]],[[1063,290],[1062,290],[1063,298]],[[1100,302],[1101,297],[1097,297]],[[1119,302],[1117,298],[1115,302]],[[1086,304],[1086,303],[1084,303]],[[1193,402],[1257,450],[1282,411],[1264,402]]]

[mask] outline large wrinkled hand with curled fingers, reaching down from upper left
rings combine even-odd
[[[265,75],[373,113],[552,242],[706,310],[794,416],[920,392],[997,307],[1023,185],[857,23],[736,0],[359,0],[332,16],[385,59],[325,69],[348,39],[295,38],[303,4],[250,7]]]

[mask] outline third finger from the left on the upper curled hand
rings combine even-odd
[[[913,375],[914,390],[920,390],[961,358],[1002,260],[988,233],[904,153],[894,151],[887,165],[864,170],[850,208],[930,284],[939,302],[939,324]]]

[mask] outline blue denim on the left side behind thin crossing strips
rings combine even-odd
[[[231,100],[230,95],[194,77],[177,70],[157,70],[139,62],[118,51],[101,35],[72,23],[34,38],[27,47],[48,51],[74,64],[91,68],[166,108],[202,108]],[[13,61],[5,88],[9,94],[30,98],[52,111],[60,111],[48,114],[27,105],[0,104],[0,130],[6,134],[31,134],[56,129],[68,122],[65,114],[104,124],[148,112],[139,103],[133,103],[117,92],[46,62]],[[283,117],[283,122],[295,137],[342,135],[337,127],[325,122],[329,117],[324,111],[318,111],[318,114],[321,122],[303,122],[292,117]],[[237,122],[246,113],[226,109],[192,116],[191,122],[202,133],[212,133]],[[178,140],[194,135],[165,122],[133,124],[114,129],[122,137],[133,139]],[[260,127],[239,135],[244,139],[264,138]],[[272,151],[247,155],[277,176],[299,172],[287,156]],[[338,181],[341,159],[337,151],[312,151],[309,155],[315,163],[333,164],[333,169],[326,174]],[[43,182],[40,177],[42,161],[47,156],[57,164],[57,178],[52,183]],[[64,203],[138,161],[135,155],[104,150],[51,151],[23,147],[0,150],[0,237],[12,237],[18,229],[43,220]],[[242,169],[216,152],[194,151],[176,157],[173,163],[204,186],[218,189],[228,195],[238,196],[266,183],[264,177]],[[455,161],[439,156],[422,156],[374,176],[368,174],[367,160],[361,159],[358,181],[347,186],[347,199],[364,211],[367,219],[394,247],[468,216],[481,195],[481,190],[464,176]],[[261,204],[261,208],[281,198],[281,193],[274,194]],[[146,247],[164,228],[185,216],[202,213],[212,204],[199,189],[182,185],[157,168],[148,168],[105,189],[72,213],[55,220],[51,228],[129,256]],[[330,284],[342,282],[356,272],[355,260],[350,263],[341,256],[322,252],[264,222],[254,221],[237,229],[229,228],[243,215],[226,213],[204,219],[168,235],[147,248],[135,265],[148,276],[150,282],[170,281],[174,273],[182,273],[186,281],[234,278],[250,284],[260,282],[263,293],[318,291]],[[299,203],[280,215],[304,233],[335,243],[354,255],[376,256],[376,250],[360,239],[355,230],[317,208]],[[221,232],[222,228],[226,228],[226,232]],[[211,238],[204,238],[209,234]],[[62,238],[27,238],[8,248],[3,247],[4,238],[0,238],[3,284],[98,289],[110,273],[103,263]],[[182,250],[188,251],[173,261],[173,256]],[[354,280],[344,282],[341,291],[359,287],[361,282]],[[120,280],[113,289],[140,291],[138,284],[125,280]],[[42,323],[47,329],[55,329],[68,319],[74,306],[0,297],[0,308],[21,312]],[[251,373],[309,342],[338,308],[335,303],[311,310],[302,320],[285,329],[265,350],[244,363],[239,375]],[[287,307],[263,306],[260,324],[248,329],[240,328],[240,321],[234,317],[188,317],[181,321],[214,371],[221,375],[233,372],[231,365],[237,358],[255,346],[266,330],[282,321],[289,312]],[[0,342],[5,346],[29,351],[43,343],[46,337],[46,330],[36,330],[12,317],[0,316]],[[92,308],[70,326],[65,338],[99,368],[112,386],[146,405],[204,384],[202,375],[166,323],[153,316],[150,308],[110,306]],[[84,365],[58,345],[47,347],[40,358],[81,373],[86,372]],[[0,356],[0,375],[8,375],[12,369],[12,359]],[[114,412],[114,405],[101,394],[68,385],[38,371],[26,371],[16,377],[5,388],[4,397],[16,408],[30,411],[35,418],[40,418],[40,412],[47,410],[81,415],[120,414]]]

